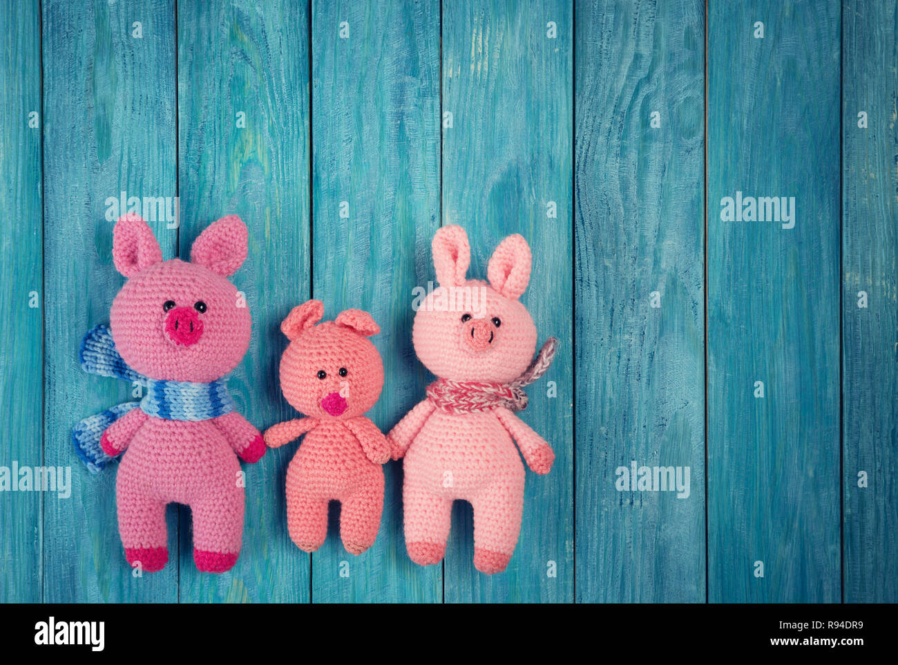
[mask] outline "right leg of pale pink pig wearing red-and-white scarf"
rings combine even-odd
[[[524,478],[495,483],[471,500],[474,567],[491,575],[506,569],[515,552],[524,512]]]

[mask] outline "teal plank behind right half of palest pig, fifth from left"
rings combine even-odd
[[[524,235],[533,272],[521,301],[540,343],[560,341],[521,414],[554,448],[551,473],[526,472],[523,527],[506,572],[473,567],[471,508],[456,506],[446,602],[574,597],[572,9],[561,0],[443,4],[445,124],[452,114],[443,129],[443,223],[467,230],[475,279],[486,277],[502,238]]]

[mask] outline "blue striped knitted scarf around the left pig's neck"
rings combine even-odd
[[[208,384],[191,381],[157,381],[129,368],[115,349],[106,325],[98,325],[81,342],[81,367],[101,377],[137,381],[145,387],[140,402],[116,404],[102,413],[85,418],[72,431],[75,452],[93,473],[99,473],[113,457],[100,445],[102,433],[131,409],[139,407],[147,415],[166,421],[207,421],[233,411],[233,399],[227,392],[227,379]]]

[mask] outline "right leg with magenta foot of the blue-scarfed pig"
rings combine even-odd
[[[225,572],[240,554],[243,536],[242,487],[217,488],[190,504],[193,561],[200,572]]]

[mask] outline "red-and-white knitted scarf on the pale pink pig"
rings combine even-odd
[[[427,386],[427,399],[436,404],[438,409],[450,413],[491,411],[497,406],[505,406],[512,411],[524,411],[527,408],[524,386],[529,386],[546,373],[558,342],[554,337],[546,340],[530,367],[511,383],[453,381],[440,378]]]

